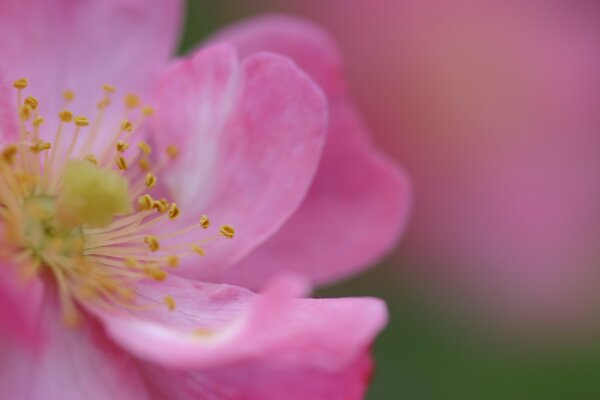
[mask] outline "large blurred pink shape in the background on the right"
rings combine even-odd
[[[334,34],[369,126],[412,176],[405,278],[510,329],[596,322],[600,3],[270,5]]]

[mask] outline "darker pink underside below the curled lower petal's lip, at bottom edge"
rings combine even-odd
[[[208,370],[169,370],[142,364],[158,399],[359,400],[364,399],[372,363],[367,354],[339,370],[310,361],[282,363],[267,358]]]

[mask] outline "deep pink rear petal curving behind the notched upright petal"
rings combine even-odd
[[[403,230],[411,190],[405,173],[367,139],[330,37],[311,23],[267,16],[212,40],[229,41],[243,55],[268,50],[293,58],[325,89],[330,126],[323,161],[302,206],[269,241],[211,279],[259,287],[285,269],[324,283],[374,263]]]

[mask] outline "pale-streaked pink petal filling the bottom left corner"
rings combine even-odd
[[[92,320],[67,328],[54,294],[44,299],[47,345],[39,352],[0,344],[0,398],[27,400],[149,399],[131,359]]]

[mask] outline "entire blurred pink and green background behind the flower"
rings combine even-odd
[[[600,2],[190,0],[181,52],[286,12],[337,39],[412,177],[369,399],[600,399]],[[309,384],[309,382],[307,382]]]

